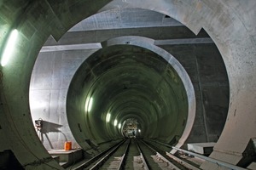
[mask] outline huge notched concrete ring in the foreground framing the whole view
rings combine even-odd
[[[203,28],[216,44],[224,59],[229,77],[230,101],[224,130],[218,138],[211,157],[247,167],[246,164],[241,163],[248,157],[243,152],[250,139],[256,136],[254,130],[256,122],[254,112],[256,109],[255,7],[256,3],[253,0],[246,2],[241,0],[160,0],[158,3],[151,0],[61,3],[46,0],[40,2],[10,0],[1,2],[1,54],[12,28],[17,28],[19,35],[12,58],[9,59],[8,65],[1,67],[0,150],[12,150],[22,167],[26,169],[61,169],[38,139],[31,118],[29,82],[40,48],[49,35],[58,41],[72,26],[91,14],[96,14],[99,10],[144,8],[170,16],[195,34]],[[197,64],[200,63],[199,61],[201,60],[197,60]],[[215,99],[216,97],[218,99],[218,95],[209,97],[210,95],[203,93],[203,86],[200,85],[198,89],[201,98]],[[216,94],[214,91],[212,93]],[[204,105],[199,108],[203,109],[204,114],[198,117],[204,122],[205,128],[207,121],[211,122],[214,116],[210,115],[207,119],[204,109],[211,107],[207,107],[208,102],[201,104]],[[207,132],[206,129],[205,132]],[[200,132],[197,134],[199,138],[202,135]],[[209,136],[207,139],[210,140]],[[218,165],[208,162],[201,167],[203,169],[219,168]]]

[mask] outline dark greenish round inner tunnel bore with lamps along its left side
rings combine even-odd
[[[67,120],[84,150],[123,138],[122,126],[135,119],[140,137],[174,144],[183,134],[188,98],[172,65],[134,45],[113,45],[90,55],[73,76]],[[87,142],[86,142],[87,141]]]

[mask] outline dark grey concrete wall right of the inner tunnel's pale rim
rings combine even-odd
[[[229,109],[229,82],[214,44],[161,46],[173,54],[191,78],[196,95],[195,125],[187,143],[217,142]]]

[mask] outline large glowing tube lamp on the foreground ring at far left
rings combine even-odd
[[[12,52],[14,51],[15,48],[15,43],[18,37],[18,31],[15,29],[10,33],[9,39],[6,43],[6,46],[3,51],[3,56],[1,59],[1,65],[4,66],[8,63],[9,58],[12,55]]]

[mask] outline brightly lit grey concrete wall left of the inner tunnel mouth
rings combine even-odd
[[[67,89],[79,65],[95,50],[40,53],[32,72],[30,106],[33,122],[43,119],[39,139],[47,150],[63,149],[65,141],[78,148],[67,123]],[[75,114],[75,113],[73,113]]]

